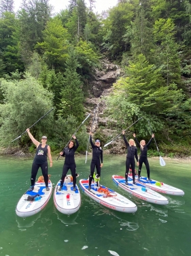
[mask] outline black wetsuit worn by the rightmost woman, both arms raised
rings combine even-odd
[[[140,143],[139,143],[139,141],[137,140],[136,137],[135,137],[135,141],[136,141],[138,147],[141,150],[141,145],[140,145]],[[139,157],[139,173],[138,173],[138,175],[139,175],[139,177],[141,176],[141,168],[142,168],[142,165],[144,163],[145,167],[147,169],[147,177],[148,177],[148,179],[150,179],[150,165],[149,165],[149,162],[147,160],[147,150],[148,150],[148,147],[149,147],[151,142],[152,142],[152,138],[150,139],[150,141],[146,145],[144,145],[142,147],[141,155]]]

